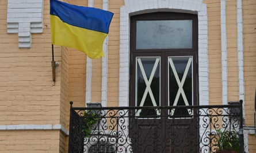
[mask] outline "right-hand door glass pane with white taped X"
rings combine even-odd
[[[169,105],[193,104],[192,57],[169,57]],[[189,115],[188,109],[172,110],[171,115]]]

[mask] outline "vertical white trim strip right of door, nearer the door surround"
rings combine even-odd
[[[226,0],[220,1],[222,104],[228,104]]]

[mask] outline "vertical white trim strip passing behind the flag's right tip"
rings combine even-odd
[[[103,0],[102,9],[108,10],[109,1]],[[103,50],[105,57],[102,58],[102,81],[101,81],[101,105],[108,106],[108,37],[106,37]]]

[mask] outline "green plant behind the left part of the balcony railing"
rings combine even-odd
[[[93,111],[85,111],[83,113],[82,135],[85,138],[89,138],[91,136],[93,125],[95,125],[98,120],[100,120],[100,116]]]

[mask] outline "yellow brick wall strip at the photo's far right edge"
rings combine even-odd
[[[246,124],[254,124],[256,89],[256,1],[243,1],[243,50]],[[255,143],[256,144],[256,143]]]

